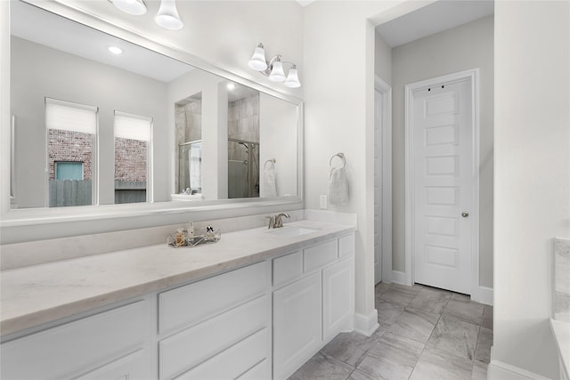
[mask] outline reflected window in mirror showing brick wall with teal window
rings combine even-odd
[[[97,108],[45,98],[49,206],[94,204]]]

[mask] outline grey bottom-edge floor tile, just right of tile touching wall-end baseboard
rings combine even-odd
[[[357,370],[375,379],[407,379],[424,344],[387,332],[361,361]]]

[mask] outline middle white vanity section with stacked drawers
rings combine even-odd
[[[238,378],[271,368],[271,268],[256,263],[159,294],[159,378]],[[271,377],[261,370],[260,379]]]

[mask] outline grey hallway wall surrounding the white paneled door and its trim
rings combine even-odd
[[[479,68],[479,283],[493,287],[493,16],[392,50],[393,269],[404,264],[404,85]]]

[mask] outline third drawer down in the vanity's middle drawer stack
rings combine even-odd
[[[248,336],[240,343],[221,352],[196,368],[176,377],[176,380],[234,379],[260,361],[270,357],[271,330],[268,327]],[[264,377],[271,378],[271,375]]]

